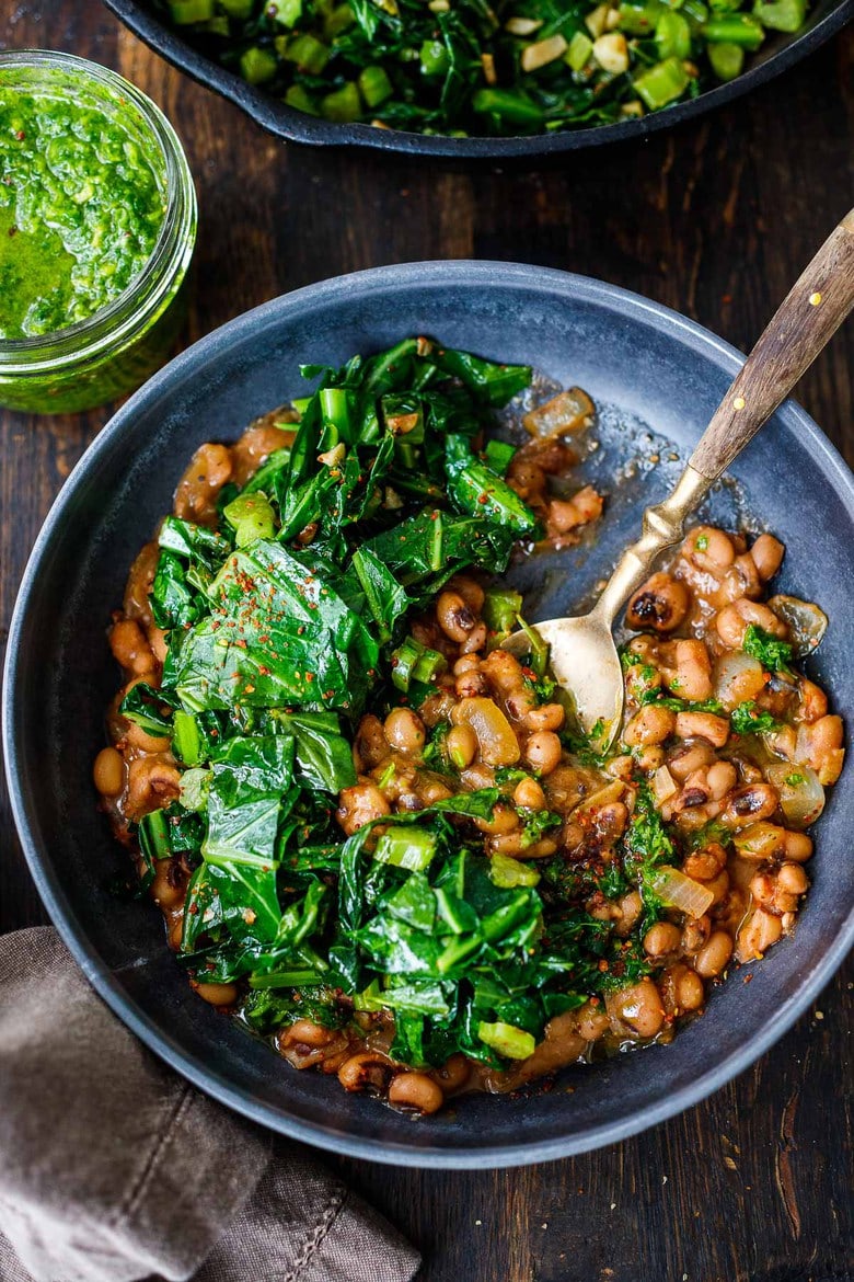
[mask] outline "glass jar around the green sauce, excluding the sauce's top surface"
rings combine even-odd
[[[47,50],[0,53],[4,90],[67,99],[127,131],[156,176],[164,218],[145,268],[85,320],[32,338],[0,338],[0,405],[38,414],[91,409],[138,387],[166,359],[184,318],[183,283],[196,244],[196,191],[160,109],[114,72]]]

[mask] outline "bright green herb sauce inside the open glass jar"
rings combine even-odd
[[[86,320],[145,269],[165,176],[133,132],[120,109],[0,88],[0,338]]]

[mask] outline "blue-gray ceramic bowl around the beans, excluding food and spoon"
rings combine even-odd
[[[713,994],[672,1046],[568,1070],[551,1094],[471,1097],[412,1122],[337,1081],[297,1073],[200,1001],[179,973],[159,913],[111,897],[120,867],[95,809],[91,762],[115,687],[105,626],[140,545],[168,510],[178,474],[209,438],[233,438],[294,395],[303,360],[429,332],[493,358],[531,360],[577,382],[618,417],[647,419],[690,445],[740,356],[665,308],[583,277],[506,263],[380,268],[300,290],[210,335],[152,378],[67,481],[24,574],[9,637],[5,754],[32,874],[87,976],[118,1015],[210,1095],[274,1129],[380,1161],[488,1167],[542,1161],[609,1144],[695,1104],[741,1072],[808,1006],[854,935],[850,779],[817,832],[814,886],[794,937]],[[607,412],[603,417],[608,417]],[[613,415],[611,415],[613,417]],[[617,436],[620,432],[617,432]],[[718,501],[759,513],[789,545],[784,585],[816,597],[832,626],[816,672],[854,724],[849,679],[854,483],[818,428],[786,404],[739,460]],[[615,501],[602,540],[539,576],[535,610],[593,585],[665,474],[644,470]],[[545,586],[545,591],[543,590]],[[540,614],[542,617],[542,614]],[[574,1086],[574,1092],[563,1087]]]

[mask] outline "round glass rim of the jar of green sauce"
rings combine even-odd
[[[97,358],[106,347],[120,347],[133,338],[174,291],[175,276],[183,276],[189,265],[197,219],[196,188],[184,149],[164,113],[142,90],[100,63],[52,49],[0,50],[0,88],[4,71],[28,67],[64,71],[108,95],[120,95],[161,154],[166,209],[145,267],[115,299],[52,333],[0,338],[0,373],[14,377],[55,372],[58,365]]]

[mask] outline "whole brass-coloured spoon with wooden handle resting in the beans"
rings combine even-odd
[[[620,558],[589,614],[533,624],[549,646],[554,679],[570,694],[585,733],[608,747],[622,722],[624,685],[615,619],[656,559],[685,535],[686,518],[785,400],[854,306],[854,209],[831,232],[745,360],[663,503],[647,508],[643,535]],[[503,642],[530,653],[525,632]],[[595,728],[595,731],[594,731]]]

